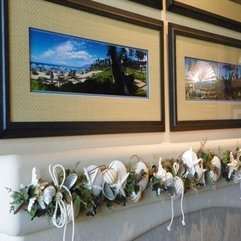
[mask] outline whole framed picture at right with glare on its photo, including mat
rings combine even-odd
[[[171,131],[241,127],[241,40],[168,25]]]

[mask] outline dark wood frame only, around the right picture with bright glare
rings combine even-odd
[[[188,120],[178,119],[178,93],[177,88],[177,61],[176,38],[184,36],[190,39],[203,40],[210,43],[221,44],[241,49],[241,40],[233,39],[178,24],[168,24],[168,64],[169,64],[169,102],[170,102],[170,130],[190,131],[204,129],[240,128],[241,119],[213,119],[213,120]],[[184,66],[183,66],[184,68]],[[183,76],[184,78],[184,76]]]

